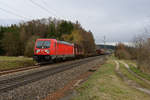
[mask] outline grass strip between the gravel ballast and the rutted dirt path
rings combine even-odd
[[[79,95],[72,100],[150,100],[149,95],[129,87],[116,75],[110,59],[76,90]]]

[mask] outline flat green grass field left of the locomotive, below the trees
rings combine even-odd
[[[0,70],[8,70],[34,65],[32,58],[0,56]]]

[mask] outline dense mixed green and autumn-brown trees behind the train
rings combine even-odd
[[[48,18],[0,26],[0,55],[31,57],[37,38],[53,38],[76,43],[86,54],[95,52],[92,32],[86,31],[78,21],[73,23]]]

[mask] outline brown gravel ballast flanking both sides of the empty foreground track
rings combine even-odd
[[[90,68],[102,64],[104,62],[103,60],[104,60],[104,56],[97,57],[96,60],[89,61],[86,64],[82,64],[72,69],[51,75],[39,81],[29,83],[24,86],[20,86],[11,91],[0,93],[0,100],[42,100],[48,94],[53,93],[54,91],[62,88],[69,81],[80,76],[82,73],[87,72]],[[71,62],[73,61],[69,61],[65,63],[71,63]],[[4,75],[0,77],[0,80],[16,77],[18,75],[29,74],[49,67],[57,67],[58,65],[65,64],[65,63],[47,65],[38,69]]]

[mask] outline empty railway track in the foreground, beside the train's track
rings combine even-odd
[[[84,60],[73,62],[71,64],[59,65],[55,68],[49,68],[46,70],[33,72],[33,73],[30,73],[27,75],[17,76],[17,77],[11,78],[11,79],[0,80],[0,93],[7,92],[7,91],[17,88],[19,86],[23,86],[28,83],[38,81],[38,80],[46,78],[50,75],[54,75],[56,73],[63,72],[65,70],[71,69],[73,67],[80,66],[82,64],[85,64],[86,62],[90,62],[90,61],[93,61],[98,58],[100,58],[100,56],[86,58]]]

